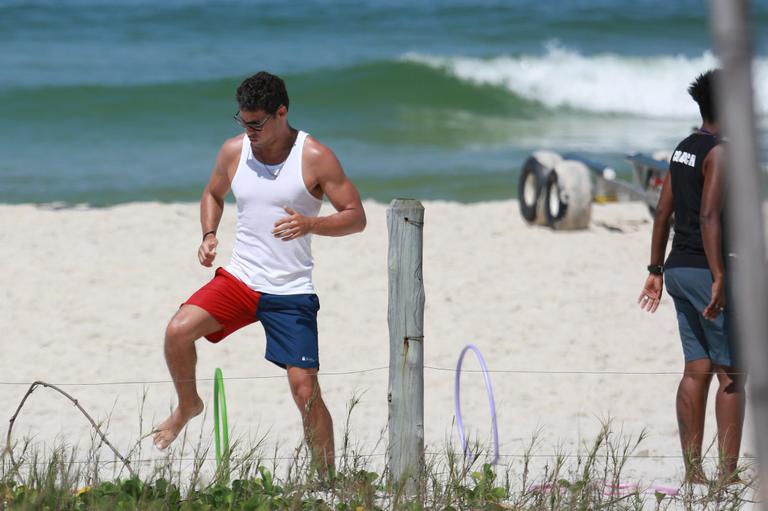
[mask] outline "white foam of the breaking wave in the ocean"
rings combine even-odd
[[[505,87],[548,108],[673,118],[698,117],[686,89],[696,75],[718,64],[711,52],[693,58],[587,56],[558,43],[537,56],[480,59],[408,53],[402,58],[472,83]],[[761,115],[768,115],[768,58],[755,59],[753,70],[756,105]]]

